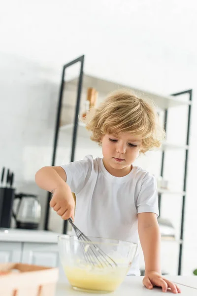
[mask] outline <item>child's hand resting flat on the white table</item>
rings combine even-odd
[[[162,287],[163,292],[170,288],[172,293],[181,293],[181,290],[175,284],[162,277],[156,271],[147,272],[143,278],[143,284],[148,289],[153,289],[154,286],[157,286]]]

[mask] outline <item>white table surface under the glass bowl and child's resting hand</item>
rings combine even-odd
[[[167,279],[177,284],[181,289],[180,296],[197,296],[197,276],[166,276]],[[143,276],[127,276],[122,285],[115,292],[109,294],[92,294],[83,293],[75,291],[69,285],[67,280],[57,284],[56,296],[77,296],[77,295],[87,295],[87,296],[103,296],[103,295],[114,295],[114,296],[161,296],[161,295],[175,295],[168,291],[163,293],[162,289],[154,288],[153,290],[148,290],[142,285]],[[190,287],[188,287],[190,286]]]

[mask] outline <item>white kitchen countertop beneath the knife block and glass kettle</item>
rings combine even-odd
[[[0,228],[1,242],[57,243],[58,235],[44,230]]]

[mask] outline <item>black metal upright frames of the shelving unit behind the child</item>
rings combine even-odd
[[[75,116],[74,116],[74,127],[72,133],[72,148],[71,148],[71,157],[70,162],[74,161],[75,148],[76,148],[76,138],[77,138],[77,128],[78,128],[78,113],[80,109],[80,99],[81,99],[81,89],[82,89],[82,81],[83,81],[83,67],[84,67],[84,55],[78,57],[77,59],[67,63],[63,66],[59,101],[58,101],[58,110],[57,110],[57,118],[56,118],[56,127],[55,127],[55,137],[54,137],[54,145],[53,145],[53,156],[52,156],[52,166],[55,165],[56,159],[56,150],[58,144],[58,135],[59,135],[59,127],[60,127],[60,116],[61,116],[61,108],[62,108],[62,99],[63,99],[63,91],[66,85],[65,75],[66,69],[76,63],[81,63],[79,79],[77,84],[77,101],[75,106]],[[186,187],[187,187],[187,169],[188,169],[188,153],[189,153],[189,142],[190,142],[190,122],[191,122],[191,108],[192,108],[192,89],[186,90],[183,92],[172,94],[172,96],[180,96],[183,94],[189,95],[189,104],[188,106],[188,122],[187,122],[187,140],[185,149],[185,170],[184,170],[184,180],[183,180],[183,192],[182,195],[182,213],[181,213],[181,231],[180,231],[180,242],[179,242],[179,263],[178,263],[178,275],[181,275],[181,264],[182,264],[182,250],[183,250],[183,234],[184,234],[184,217],[185,217],[185,201],[186,201]],[[164,110],[164,130],[167,128],[167,118],[168,118],[168,109]],[[161,161],[161,176],[164,175],[164,161],[165,161],[165,150],[162,151],[162,161]],[[162,195],[163,193],[158,193],[159,200],[159,210],[161,212],[162,206]],[[46,216],[45,216],[45,230],[48,230],[48,222],[49,222],[49,203],[51,200],[51,193],[48,192],[47,195],[47,205],[46,205]],[[64,222],[64,230],[63,233],[66,233],[67,229],[67,221]]]

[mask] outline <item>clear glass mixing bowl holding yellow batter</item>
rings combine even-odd
[[[99,293],[115,291],[131,268],[137,244],[89,238],[91,242],[78,240],[72,235],[58,236],[60,259],[66,277],[75,290]],[[99,250],[106,255],[99,255]]]

